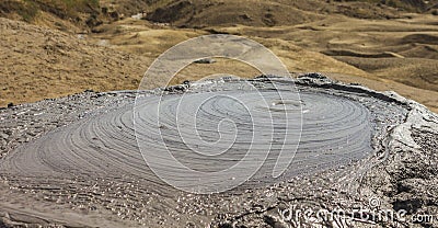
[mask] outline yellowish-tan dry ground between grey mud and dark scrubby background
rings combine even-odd
[[[114,3],[103,0],[101,3],[116,9],[129,1]],[[203,29],[176,29],[134,20],[127,15],[125,20],[96,27],[100,33],[92,34],[87,42],[79,42],[74,36],[55,31],[8,22],[12,23],[13,29],[1,25],[3,36],[0,47],[4,55],[0,72],[3,87],[0,105],[55,98],[84,89],[136,89],[149,64],[164,50],[188,38],[215,32],[242,35],[262,43],[279,56],[291,72],[328,72],[343,81],[360,82],[377,90],[394,90],[438,111],[438,99],[435,99],[438,98],[436,16],[400,14],[397,20],[371,21],[341,14],[321,15],[318,12],[325,12],[324,9],[315,9],[313,1],[307,1],[295,3],[295,10],[290,12],[283,9],[283,12],[296,12],[296,15],[304,18],[295,20],[279,13],[274,18],[281,23],[267,26],[263,22],[264,13],[269,9],[270,12],[277,12],[275,9],[284,1],[264,3],[247,0],[254,3],[251,9],[233,9],[233,13],[243,15],[242,24],[249,24],[242,25],[240,21],[227,22],[234,14],[221,21],[217,18],[219,15],[207,10],[209,7],[204,5],[210,3],[210,8],[218,9],[215,2],[195,2],[195,8],[199,10],[198,18],[193,19],[188,25],[201,25]],[[166,3],[158,1],[149,10],[153,11]],[[333,5],[344,4],[349,5],[350,2]],[[141,9],[143,5],[139,3],[134,8]],[[238,7],[226,7],[231,11],[233,5]],[[314,12],[308,12],[309,9],[314,9]],[[332,12],[334,8],[326,10]],[[391,10],[385,12],[393,13]],[[39,20],[39,24],[50,26],[59,21],[53,14],[45,13],[45,20]],[[253,20],[249,20],[245,14]],[[203,21],[206,16],[210,16],[210,21]],[[19,33],[12,36],[8,30]],[[55,37],[55,41],[47,41],[47,36]],[[107,41],[110,48],[90,45],[101,41]],[[45,49],[46,46],[48,49]],[[127,55],[130,57],[125,58]],[[212,73],[252,77],[258,72],[249,66],[222,59],[212,65],[191,65],[178,73],[174,82],[195,80]]]

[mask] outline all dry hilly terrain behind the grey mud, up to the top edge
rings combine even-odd
[[[136,89],[148,66],[168,48],[199,35],[227,33],[262,43],[291,72],[326,72],[438,109],[433,1],[70,2],[74,8],[62,1],[14,1],[0,3],[0,15],[31,24],[1,19],[3,106],[85,89]],[[178,78],[256,76],[246,68],[218,61],[191,66]]]

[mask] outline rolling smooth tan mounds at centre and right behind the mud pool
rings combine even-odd
[[[433,37],[438,29],[431,25],[437,19],[411,16],[410,20],[371,22],[334,15],[300,25],[234,25],[206,30],[158,26],[129,19],[108,25],[106,32],[97,37],[108,38],[113,47],[122,52],[154,58],[182,41],[207,34],[205,31],[243,35],[272,49],[292,72],[326,72],[336,79],[365,83],[372,89],[394,90],[437,112],[438,99],[434,98],[438,98],[438,55]],[[114,32],[116,29],[117,33]],[[176,81],[196,79],[212,71],[239,75],[244,69],[230,62],[221,65],[191,66],[180,73]]]

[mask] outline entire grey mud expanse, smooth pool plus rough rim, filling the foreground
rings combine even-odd
[[[320,73],[221,78],[140,92],[85,91],[3,109],[0,119],[0,227],[437,225],[411,218],[438,215],[438,116],[394,92]],[[189,128],[195,125],[200,139]],[[164,183],[143,160],[140,150],[165,152],[161,140],[182,163],[206,172],[232,167],[249,144],[255,153],[269,144],[272,151],[242,185],[191,194]],[[283,142],[292,151],[298,140],[288,169],[272,178]],[[191,151],[211,145],[211,153],[227,152],[212,159]],[[194,178],[169,163],[159,167],[175,181]],[[238,173],[245,173],[241,169]],[[239,176],[229,178],[231,185]],[[351,219],[285,217],[291,208],[343,209]],[[357,208],[404,209],[406,215],[364,217]]]

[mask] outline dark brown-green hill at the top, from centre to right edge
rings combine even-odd
[[[292,25],[321,20],[327,14],[358,19],[403,18],[402,12],[424,12],[433,2],[423,0],[261,1],[175,0],[151,11],[147,19],[183,27],[243,24]]]

